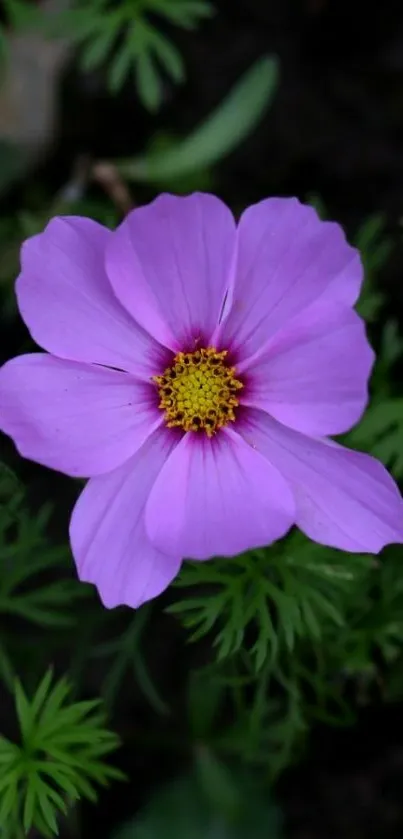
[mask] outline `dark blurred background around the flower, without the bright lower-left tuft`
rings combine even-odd
[[[58,213],[114,226],[162,190],[194,189],[236,215],[297,195],[360,247],[379,361],[351,445],[401,479],[401,2],[0,2],[1,362],[32,348],[13,294],[27,236]],[[217,594],[189,567],[156,603],[106,613],[67,546],[80,488],[1,438],[0,733],[24,733],[16,677],[32,697],[52,667],[71,702],[101,697],[121,741],[108,760],[126,780],[97,802],[65,790],[60,835],[401,839],[402,550],[349,564],[292,536],[261,560],[271,628],[260,616],[236,641],[235,571]],[[0,748],[0,833],[5,766]],[[51,835],[25,823],[10,839]]]

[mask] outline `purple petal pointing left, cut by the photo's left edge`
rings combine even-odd
[[[23,355],[0,369],[0,428],[23,457],[68,475],[99,475],[161,423],[153,396],[127,373]]]

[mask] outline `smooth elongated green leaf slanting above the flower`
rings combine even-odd
[[[277,60],[260,59],[187,139],[161,155],[117,161],[118,169],[129,180],[154,182],[183,177],[218,163],[256,127],[272,101],[277,84]]]

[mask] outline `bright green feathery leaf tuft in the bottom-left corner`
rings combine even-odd
[[[75,801],[94,801],[97,785],[123,778],[104,760],[119,739],[100,700],[73,702],[67,680],[52,684],[51,671],[31,699],[16,682],[15,702],[21,742],[0,737],[0,824],[10,839],[31,827],[51,837]]]

